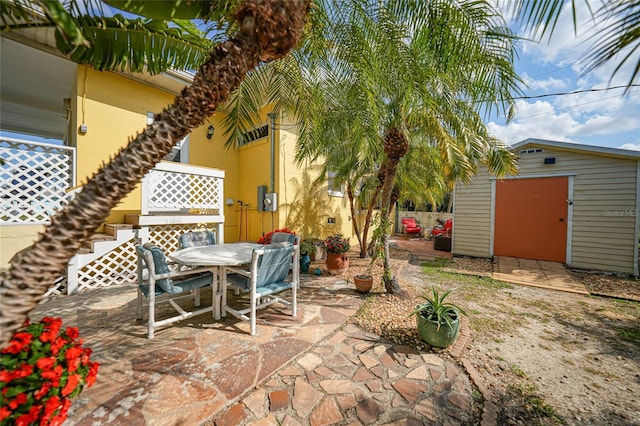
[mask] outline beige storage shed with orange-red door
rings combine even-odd
[[[452,252],[638,275],[640,152],[527,139],[519,172],[454,191]]]

